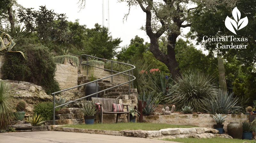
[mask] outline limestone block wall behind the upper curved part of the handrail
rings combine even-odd
[[[100,67],[100,68],[104,68],[104,65],[95,65],[97,67]],[[95,72],[98,72],[98,78],[104,78],[104,77],[108,77],[111,75],[111,72],[108,72],[108,71],[104,71],[102,69],[99,69],[99,68],[94,68]],[[113,72],[113,74],[115,74]],[[87,71],[86,69],[82,68],[82,66],[80,66],[80,76],[86,76],[87,75]],[[107,78],[107,79],[104,79],[104,80],[108,80],[111,82],[111,78]],[[116,75],[113,77],[113,83],[124,83],[124,82],[127,82],[128,81],[128,76],[124,76],[122,74],[119,74],[119,75]]]

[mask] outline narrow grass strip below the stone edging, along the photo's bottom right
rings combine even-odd
[[[177,138],[177,139],[163,139],[167,141],[176,141],[183,143],[243,143],[251,142],[247,139],[227,139],[227,138],[212,138],[212,139],[197,139],[197,138]]]

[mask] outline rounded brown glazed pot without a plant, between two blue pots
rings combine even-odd
[[[227,126],[228,135],[234,139],[242,139],[243,127],[238,122],[231,122]]]

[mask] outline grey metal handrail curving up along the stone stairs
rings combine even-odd
[[[64,105],[67,105],[67,104],[70,104],[70,103],[79,101],[79,100],[84,99],[84,98],[86,98],[86,97],[90,97],[90,96],[92,96],[92,95],[94,95],[94,94],[97,94],[97,95],[98,95],[98,93],[107,91],[107,90],[109,90],[109,89],[112,89],[112,88],[115,88],[115,87],[118,87],[118,86],[121,86],[121,85],[124,85],[124,84],[126,84],[126,83],[129,83],[129,95],[130,95],[130,82],[132,81],[132,87],[133,87],[133,80],[136,79],[136,77],[133,76],[133,69],[135,69],[135,66],[134,66],[134,65],[132,65],[132,64],[126,64],[126,63],[121,63],[121,62],[116,62],[116,61],[111,61],[111,60],[106,60],[106,59],[102,59],[102,58],[99,58],[99,57],[95,57],[95,56],[90,56],[90,55],[85,55],[85,54],[83,54],[83,55],[80,56],[80,64],[81,64],[81,66],[83,65],[83,64],[82,64],[82,56],[86,56],[86,64],[85,64],[85,65],[87,66],[87,70],[86,70],[86,71],[87,71],[87,75],[88,75],[88,65],[89,65],[89,66],[92,66],[92,67],[99,68],[99,69],[111,71],[111,75],[110,75],[110,76],[107,76],[107,77],[105,77],[105,78],[97,79],[97,80],[94,80],[94,81],[91,81],[91,82],[87,82],[87,83],[84,83],[84,84],[81,84],[81,85],[78,85],[78,86],[75,86],[75,87],[71,87],[71,88],[68,88],[68,89],[64,89],[64,90],[61,90],[61,91],[52,93],[52,95],[53,95],[53,125],[55,125],[55,108],[58,108],[58,107],[61,107],[61,106],[64,106]],[[88,64],[88,56],[89,56],[89,57],[94,57],[94,58],[97,58],[97,59],[100,59],[100,60],[105,60],[105,61],[111,62],[111,70],[109,70],[109,69],[104,69],[104,68],[101,68],[101,67],[97,67],[97,66],[93,66],[93,65]],[[129,66],[132,67],[132,69],[129,69],[129,70],[124,71],[124,72],[113,71],[112,62],[119,63],[119,64],[126,64],[126,65],[129,65]],[[130,74],[130,71],[132,71],[132,74]],[[117,72],[117,73],[116,73],[116,74],[113,74],[113,72]],[[125,72],[128,72],[128,74],[125,73]],[[109,88],[104,89],[104,90],[99,91],[99,92],[98,92],[98,90],[97,90],[98,87],[96,86],[96,91],[97,91],[96,93],[93,93],[93,94],[84,96],[84,97],[82,97],[82,98],[79,98],[79,99],[76,99],[76,100],[73,100],[73,101],[70,101],[70,102],[67,102],[67,103],[64,103],[64,104],[61,104],[61,105],[55,107],[55,94],[58,94],[58,93],[61,93],[61,92],[63,92],[63,91],[67,91],[67,90],[70,90],[70,89],[73,89],[73,88],[76,88],[76,87],[81,87],[81,86],[84,86],[84,85],[87,85],[87,84],[93,83],[93,82],[96,82],[96,85],[97,85],[98,81],[100,81],[100,80],[102,80],[102,79],[107,79],[107,78],[110,78],[110,77],[111,77],[111,82],[113,83],[113,76],[116,76],[116,75],[119,75],[119,74],[128,75],[128,80],[129,80],[129,81],[124,82],[124,83],[119,84],[119,85],[116,85],[116,86],[114,86],[114,87],[109,87]],[[130,76],[132,76],[132,79],[131,79],[131,80],[130,80]]]

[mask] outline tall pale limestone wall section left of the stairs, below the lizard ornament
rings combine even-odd
[[[70,64],[56,64],[55,79],[61,89],[77,86],[77,69]]]

